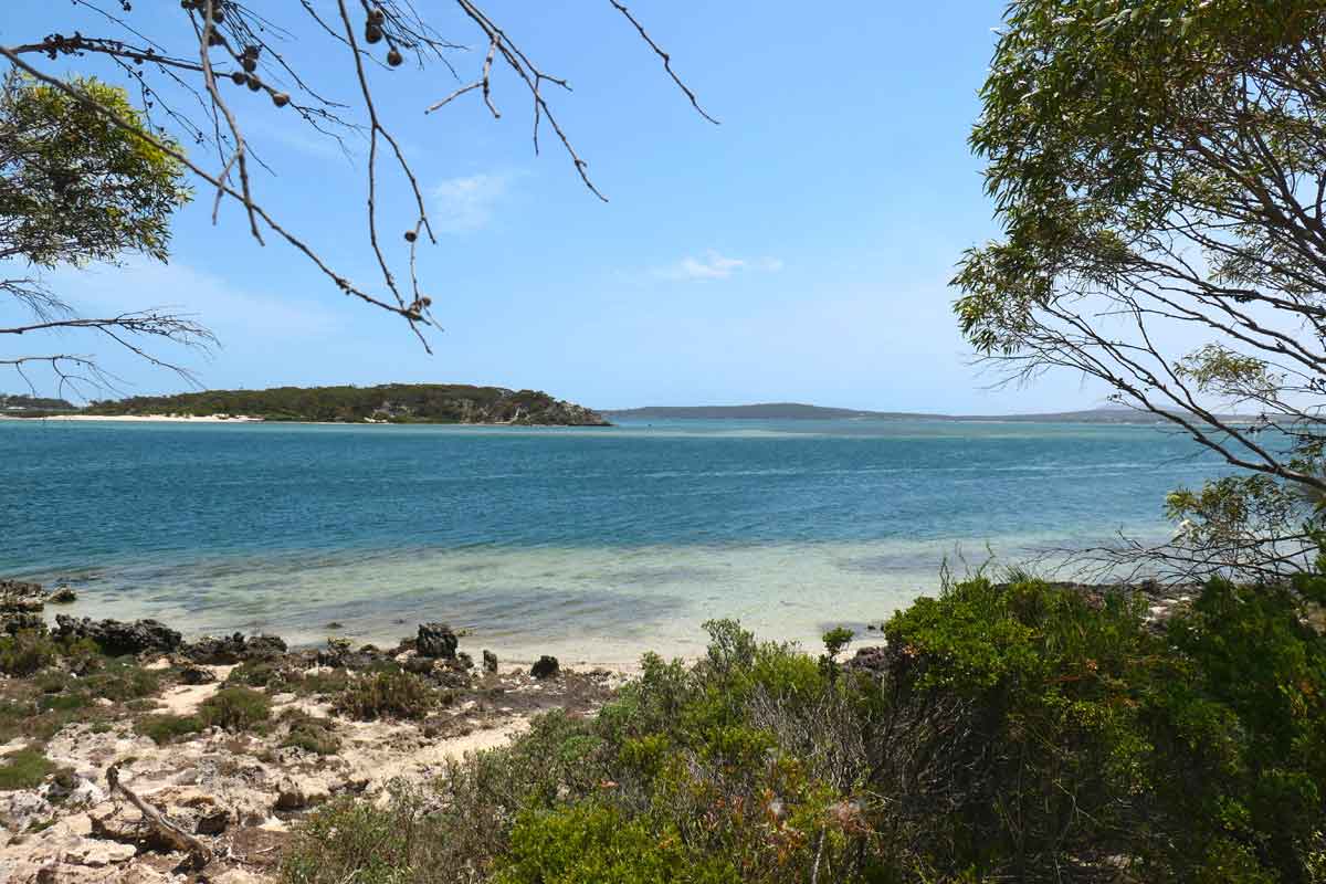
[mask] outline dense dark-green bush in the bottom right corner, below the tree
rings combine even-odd
[[[886,635],[874,787],[922,860],[1024,880],[1116,856],[1156,881],[1310,880],[1326,640],[1286,590],[1213,580],[1162,631],[1122,594],[979,579]]]

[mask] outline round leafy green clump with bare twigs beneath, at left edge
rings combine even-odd
[[[172,156],[179,144],[149,137],[149,122],[125,89],[95,77],[50,85],[11,70],[0,82],[0,261],[23,268],[23,276],[0,273],[8,277],[0,278],[0,307],[16,306],[29,317],[0,325],[0,339],[91,330],[154,362],[137,338],[203,346],[212,341],[202,326],[162,310],[77,315],[41,278],[41,270],[114,264],[133,253],[166,260],[171,216],[191,191],[183,164]],[[48,364],[61,388],[101,378],[84,355],[0,353],[0,366],[20,374],[33,363]]]

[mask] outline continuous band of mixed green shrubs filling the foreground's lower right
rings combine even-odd
[[[1326,880],[1326,639],[1301,614],[1215,580],[1160,626],[1124,592],[976,578],[869,665],[842,632],[809,655],[711,623],[704,659],[646,656],[593,718],[316,811],[284,877]]]

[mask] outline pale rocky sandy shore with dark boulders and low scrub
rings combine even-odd
[[[623,681],[477,660],[443,623],[390,648],[184,641],[89,620],[0,580],[0,880],[274,881],[290,828],[339,795],[386,799],[504,745],[552,709],[593,714]]]

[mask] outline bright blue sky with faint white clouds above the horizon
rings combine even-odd
[[[290,58],[362,118],[347,53],[286,5],[293,17],[280,21],[298,25]],[[420,258],[443,326],[428,335],[431,355],[403,321],[346,298],[274,237],[257,245],[237,205],[223,207],[213,227],[206,186],[175,219],[167,265],[131,257],[61,269],[50,276],[57,292],[86,314],[194,314],[220,347],[159,353],[211,388],[477,383],[598,408],[809,402],[997,414],[1102,404],[1098,390],[1066,375],[992,388],[997,375],[973,364],[951,313],[961,252],[997,235],[967,134],[1002,0],[842,0],[822,11],[790,0],[635,0],[633,13],[717,126],[691,109],[606,0],[491,0],[489,17],[574,87],[545,85],[607,203],[579,183],[546,127],[534,154],[529,94],[507,72],[493,78],[500,119],[477,91],[423,114],[477,76],[485,41],[451,4],[422,5],[439,9],[431,23],[440,33],[472,48],[452,56],[460,81],[412,64],[370,76],[438,229],[438,247]],[[174,3],[139,3],[131,15],[163,41],[178,44],[188,27]],[[97,27],[72,4],[7,0],[0,41]],[[272,167],[255,174],[260,201],[357,282],[375,285],[365,142],[353,140],[347,158],[248,90],[233,89],[233,105]],[[408,192],[399,178],[383,182],[385,240],[403,257],[396,231],[412,223]],[[19,343],[94,353],[123,394],[190,388],[86,334]],[[0,379],[5,388],[20,384]]]

